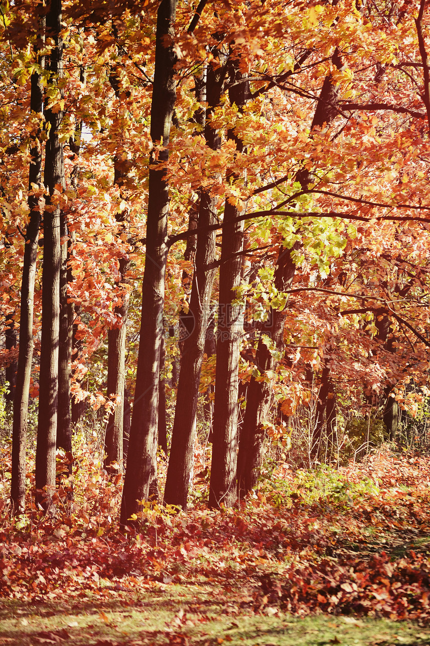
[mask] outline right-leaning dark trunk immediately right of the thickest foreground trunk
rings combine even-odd
[[[212,66],[208,69],[207,98],[208,114],[205,125],[207,145],[214,151],[220,148],[220,136],[211,127],[210,115],[219,105],[224,83],[224,70]],[[204,353],[206,329],[208,328],[209,304],[215,278],[215,231],[207,228],[216,222],[216,198],[209,191],[200,192],[197,248],[195,268],[191,286],[189,317],[193,327],[182,344],[181,370],[179,371],[178,391],[175,408],[175,421],[171,435],[170,459],[164,490],[167,505],[179,505],[186,509],[188,489],[193,468],[195,442],[195,416],[199,397],[200,371]],[[206,227],[206,230],[205,228]]]

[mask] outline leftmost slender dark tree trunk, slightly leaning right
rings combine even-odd
[[[44,57],[38,52],[44,45],[44,26],[42,3],[39,3],[39,35],[35,45],[37,62],[43,68]],[[43,85],[41,72],[33,72],[31,78],[30,111],[39,114],[42,119],[43,112]],[[42,150],[40,142],[41,130],[39,129],[32,139],[30,156],[32,163],[28,172],[29,193],[34,186],[41,185],[42,180]],[[14,421],[12,426],[12,482],[10,487],[10,500],[12,511],[20,514],[25,508],[25,479],[26,479],[26,435],[28,394],[30,391],[30,377],[33,359],[33,310],[34,310],[34,282],[36,275],[37,242],[39,240],[39,226],[41,214],[37,196],[28,196],[30,220],[27,225],[24,245],[23,278],[21,283],[21,311],[19,317],[19,354],[17,366],[17,379],[14,394]]]

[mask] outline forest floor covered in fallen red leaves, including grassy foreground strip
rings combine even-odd
[[[143,505],[125,536],[121,483],[83,456],[55,519],[11,520],[4,502],[0,645],[430,645],[426,457],[282,465],[221,512],[206,485],[187,513]]]

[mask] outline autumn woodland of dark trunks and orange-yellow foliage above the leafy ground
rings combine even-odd
[[[88,443],[126,532],[424,452],[425,1],[0,8],[13,522],[88,529]]]

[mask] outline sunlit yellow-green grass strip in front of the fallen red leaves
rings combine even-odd
[[[0,644],[64,646],[189,644],[212,646],[424,646],[430,628],[378,618],[317,614],[292,617],[277,609],[254,613],[234,590],[217,585],[148,584],[103,588],[44,603],[4,600]],[[237,603],[235,602],[237,599]]]

